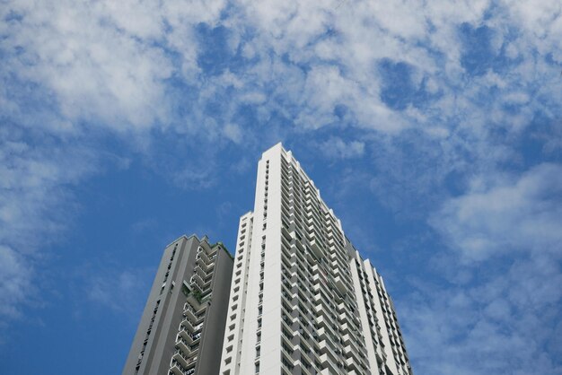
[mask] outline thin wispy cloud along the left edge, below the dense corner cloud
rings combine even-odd
[[[97,169],[92,154],[73,146],[44,147],[0,132],[0,324],[21,315],[37,292],[35,264],[71,222],[75,200],[68,185]],[[10,136],[11,135],[11,136]],[[48,137],[45,144],[52,142]]]

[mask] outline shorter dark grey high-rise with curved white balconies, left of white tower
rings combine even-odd
[[[123,375],[217,374],[233,258],[221,242],[180,237],[162,260]]]

